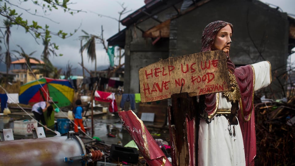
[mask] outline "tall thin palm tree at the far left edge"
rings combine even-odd
[[[10,27],[12,26],[12,22],[8,19],[3,21],[5,25],[5,35],[6,35],[6,53],[5,53],[5,63],[6,63],[6,82],[8,81],[8,70],[10,69],[11,57],[9,51],[9,37],[10,37]]]

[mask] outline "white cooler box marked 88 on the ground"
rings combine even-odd
[[[32,135],[32,130],[38,127],[38,123],[35,120],[23,120],[23,121],[14,121],[14,131],[16,135]]]

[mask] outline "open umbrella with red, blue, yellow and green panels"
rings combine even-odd
[[[68,106],[72,103],[74,89],[69,80],[44,77],[38,81],[31,81],[20,87],[19,103],[34,104],[40,101],[52,100],[58,107]]]

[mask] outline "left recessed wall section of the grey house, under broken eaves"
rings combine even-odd
[[[139,93],[138,70],[160,59],[166,59],[168,55],[167,38],[152,45],[150,38],[142,38],[140,30],[134,26],[129,27],[126,30],[124,93]]]

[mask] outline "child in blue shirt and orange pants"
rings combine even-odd
[[[86,132],[85,131],[85,128],[83,126],[83,119],[82,119],[82,113],[84,112],[83,108],[81,107],[81,100],[76,100],[76,107],[73,109],[73,117],[75,118],[74,119],[74,132],[78,132],[78,126],[81,127],[81,130],[83,132]]]

